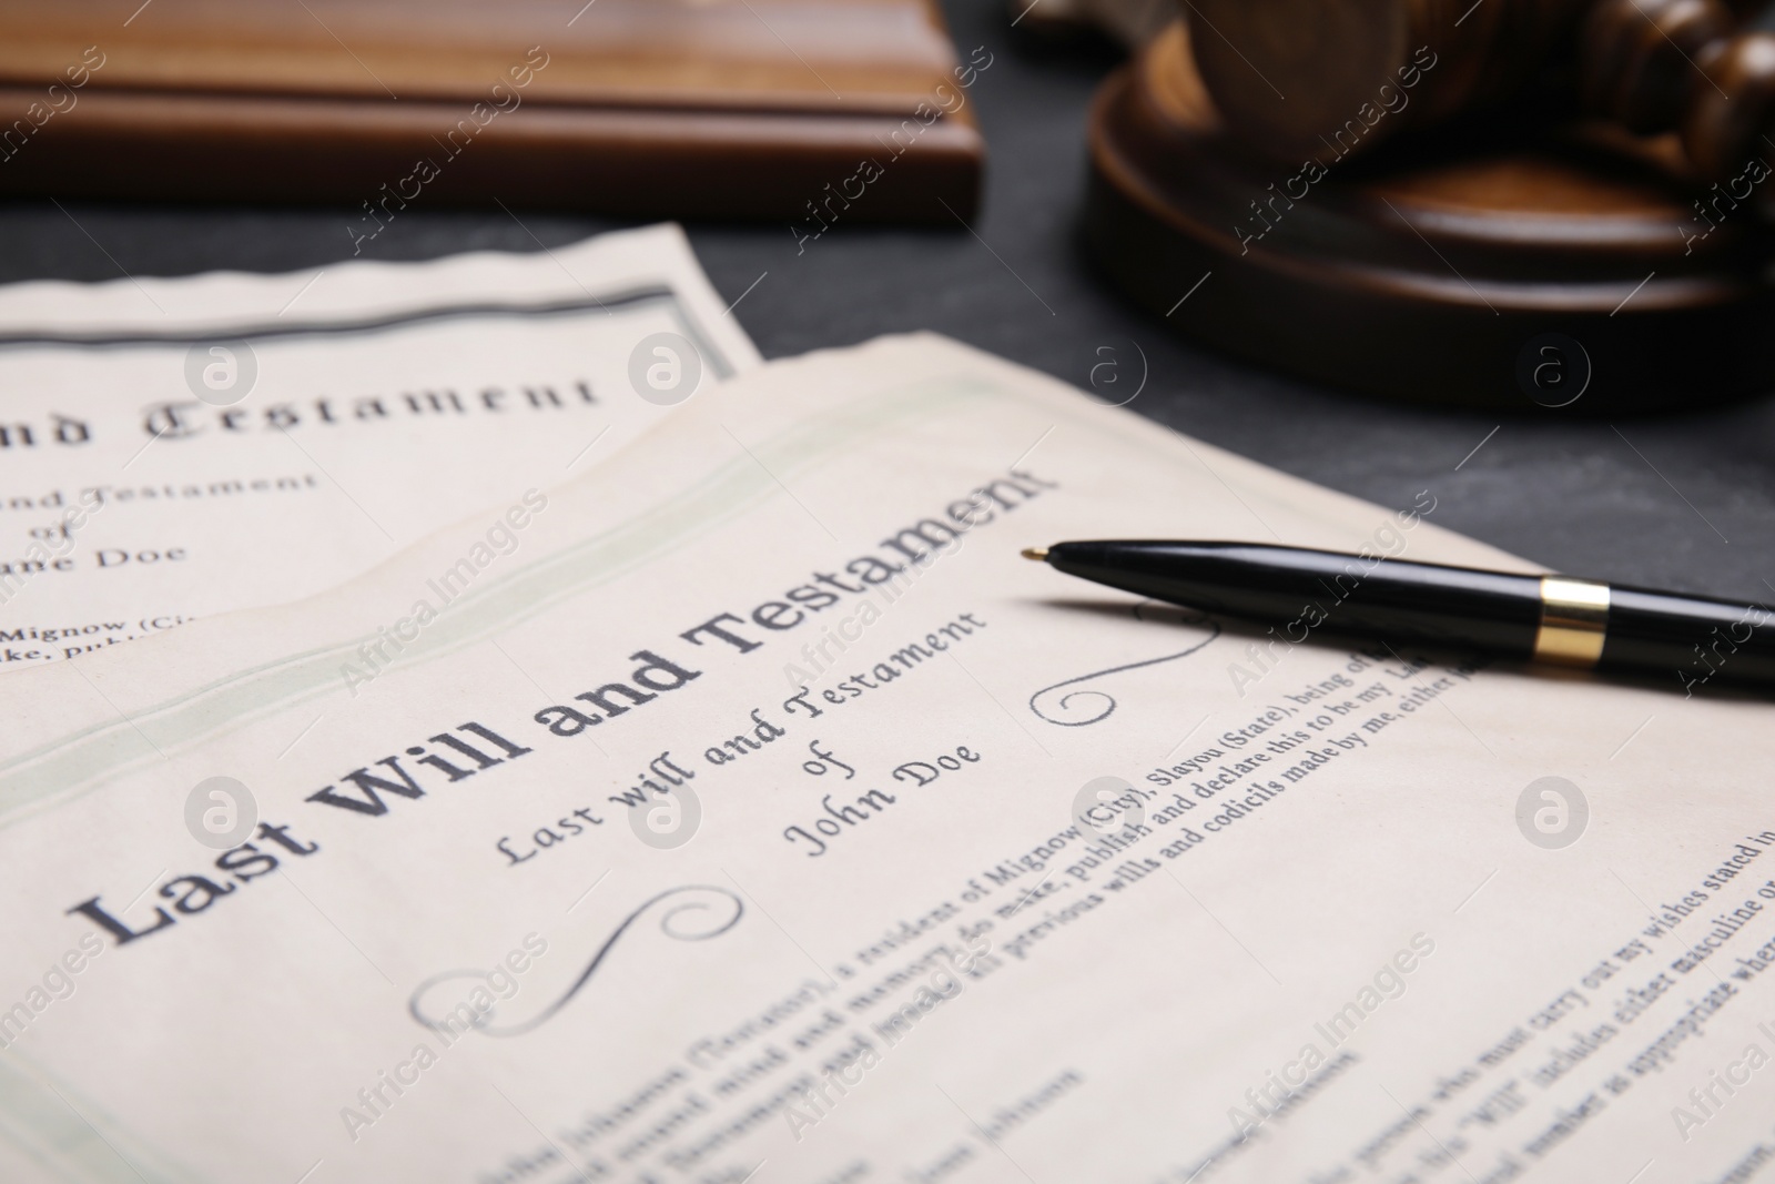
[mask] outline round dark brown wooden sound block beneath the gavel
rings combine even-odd
[[[1095,261],[1168,323],[1266,366],[1578,414],[1775,383],[1764,193],[1752,178],[1704,193],[1672,144],[1443,126],[1278,167],[1223,133],[1182,25],[1104,83],[1090,140]]]

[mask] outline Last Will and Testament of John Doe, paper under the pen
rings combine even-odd
[[[1752,1179],[1764,706],[1017,556],[1526,566],[1438,495],[886,339],[343,589],[0,680],[0,1175]]]

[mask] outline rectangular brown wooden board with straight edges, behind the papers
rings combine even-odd
[[[934,0],[0,0],[0,193],[953,224],[987,67]]]

